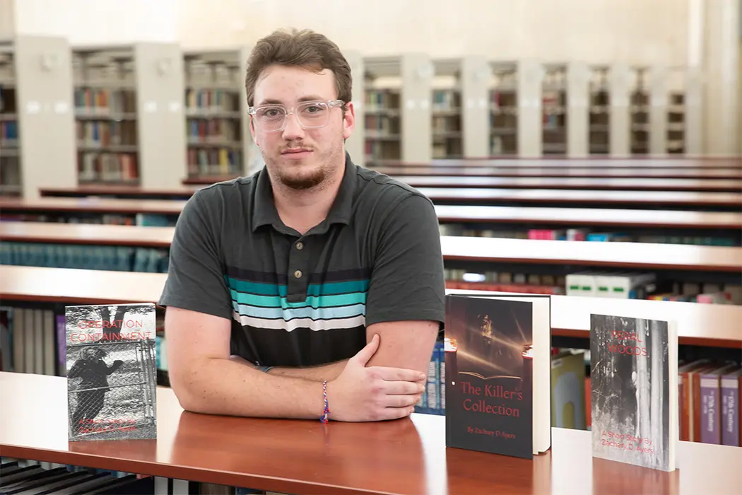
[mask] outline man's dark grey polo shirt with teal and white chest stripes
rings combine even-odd
[[[232,354],[303,367],[351,358],[374,323],[442,328],[444,292],[433,203],[346,154],[329,214],[304,235],[280,220],[266,168],[197,191],[159,303],[229,319]]]

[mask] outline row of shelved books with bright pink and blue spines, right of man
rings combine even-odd
[[[693,246],[740,246],[742,241],[729,232],[729,236],[712,235],[657,235],[627,232],[593,231],[587,228],[574,229],[473,229],[460,223],[444,223],[441,235],[457,237],[501,237],[506,239],[536,240],[584,240],[588,242],[632,242],[659,244],[689,244]]]

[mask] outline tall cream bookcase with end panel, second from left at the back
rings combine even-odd
[[[180,47],[79,45],[71,67],[77,182],[176,186],[185,163]]]

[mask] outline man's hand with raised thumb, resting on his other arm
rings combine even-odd
[[[410,416],[425,390],[426,376],[416,370],[366,367],[378,349],[374,335],[349,359],[343,372],[327,384],[329,419],[367,422]]]

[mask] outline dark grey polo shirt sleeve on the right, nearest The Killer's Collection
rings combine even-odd
[[[381,321],[439,321],[445,278],[441,235],[433,203],[411,194],[387,209],[375,246],[366,325]]]

